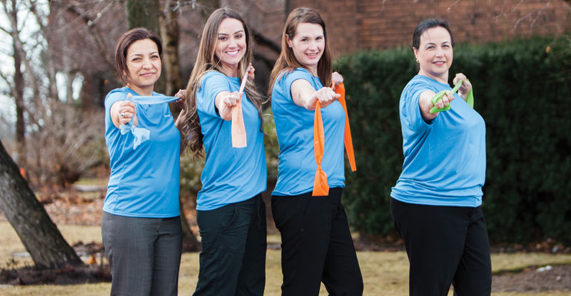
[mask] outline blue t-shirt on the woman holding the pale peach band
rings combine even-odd
[[[246,147],[233,148],[231,121],[220,117],[214,103],[221,91],[239,91],[240,80],[218,71],[209,71],[196,91],[196,108],[201,122],[206,164],[196,210],[213,210],[239,203],[266,190],[266,153],[258,109],[243,93],[242,113],[246,127]]]

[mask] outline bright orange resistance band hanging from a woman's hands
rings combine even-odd
[[[351,170],[357,170],[355,164],[355,153],[353,152],[353,139],[351,138],[351,129],[349,126],[349,115],[347,113],[347,104],[345,103],[345,86],[340,83],[335,88],[335,93],[340,94],[339,103],[345,111],[345,150],[351,165]],[[319,101],[315,102],[315,118],[313,122],[313,150],[315,151],[315,163],[317,170],[315,171],[315,180],[313,181],[313,196],[329,195],[329,185],[327,183],[327,174],[321,168],[321,160],[323,160],[323,148],[325,146],[325,132],[323,131],[323,119],[321,118],[321,106]]]

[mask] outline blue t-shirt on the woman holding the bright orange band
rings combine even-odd
[[[305,68],[285,71],[273,83],[272,111],[276,122],[280,155],[278,183],[272,195],[300,195],[313,190],[315,180],[315,151],[313,122],[315,111],[296,105],[291,98],[291,83],[298,79],[309,81],[315,90],[323,88],[318,77]],[[321,168],[327,174],[330,188],[345,187],[345,111],[339,101],[321,108],[325,146]]]

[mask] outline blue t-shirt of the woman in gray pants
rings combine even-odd
[[[105,98],[105,141],[111,175],[103,210],[137,218],[171,218],[180,215],[181,134],[167,103],[136,105],[138,128],[150,131],[149,140],[133,149],[132,133],[121,135],[111,121],[111,105],[125,101],[130,88],[116,88]],[[153,93],[153,96],[162,96]]]

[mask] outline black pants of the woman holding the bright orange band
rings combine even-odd
[[[342,188],[328,196],[273,196],[272,213],[281,233],[282,295],[363,295],[363,277],[341,205]]]

